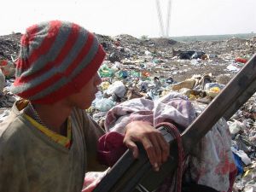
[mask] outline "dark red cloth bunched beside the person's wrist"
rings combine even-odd
[[[118,132],[108,132],[98,140],[98,159],[103,165],[113,166],[125,153],[124,136]]]

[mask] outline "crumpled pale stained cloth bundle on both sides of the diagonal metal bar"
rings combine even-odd
[[[186,96],[177,92],[171,92],[157,101],[132,99],[108,111],[105,129],[123,134],[125,125],[134,120],[144,120],[152,125],[172,122],[178,126],[179,131],[183,131],[204,107],[198,103],[192,104]],[[236,165],[230,147],[229,127],[224,119],[220,119],[186,160],[183,182],[207,185],[218,191],[231,191],[236,177]],[[174,189],[170,185],[169,188],[168,191]]]

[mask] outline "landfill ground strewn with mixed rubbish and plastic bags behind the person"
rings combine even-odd
[[[19,99],[9,91],[15,79],[20,33],[0,37],[0,122]],[[177,91],[191,102],[212,102],[256,53],[256,37],[177,42],[170,38],[96,34],[107,52],[98,73],[96,99],[87,109],[104,128],[108,111],[134,98],[155,101]],[[227,98],[229,99],[229,98]],[[234,192],[256,191],[256,94],[228,120],[236,162]]]

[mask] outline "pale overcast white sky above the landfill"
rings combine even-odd
[[[170,0],[159,0],[166,32]],[[171,0],[169,37],[256,32],[256,0]],[[90,32],[162,36],[156,0],[3,0],[0,35],[45,20],[68,20]],[[166,35],[166,33],[165,33]]]

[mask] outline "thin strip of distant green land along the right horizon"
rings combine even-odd
[[[201,35],[201,36],[182,36],[171,37],[176,41],[191,42],[191,41],[222,41],[229,38],[244,38],[249,39],[256,37],[256,33],[241,33],[241,34],[226,34],[226,35]]]

